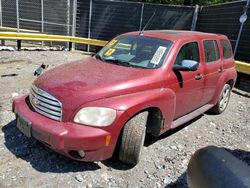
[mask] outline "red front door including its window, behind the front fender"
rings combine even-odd
[[[175,119],[202,106],[204,70],[200,63],[199,49],[198,42],[188,42],[180,48],[176,56],[174,64],[181,65],[183,60],[194,60],[199,63],[199,67],[196,71],[173,71],[171,73],[170,77],[174,79],[175,84],[169,87],[176,95]]]

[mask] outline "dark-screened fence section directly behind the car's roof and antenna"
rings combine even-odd
[[[170,6],[131,1],[81,0],[77,4],[76,35],[110,40],[130,31],[146,28],[190,30],[195,7]],[[97,47],[77,45],[83,50],[97,51]]]

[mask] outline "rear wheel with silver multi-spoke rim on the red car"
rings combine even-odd
[[[221,114],[227,108],[229,99],[231,94],[231,86],[229,84],[225,84],[221,94],[219,96],[217,104],[211,109],[215,114]]]

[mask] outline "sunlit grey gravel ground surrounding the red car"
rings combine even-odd
[[[160,138],[147,137],[140,163],[84,163],[65,158],[15,127],[12,97],[27,93],[41,64],[84,58],[80,52],[0,52],[0,187],[187,187],[186,169],[199,148],[228,148],[250,165],[249,82],[234,89],[221,115],[204,114]]]

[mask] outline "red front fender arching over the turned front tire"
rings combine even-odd
[[[172,90],[168,88],[157,88],[92,101],[84,104],[82,107],[101,106],[113,108],[117,111],[124,111],[127,114],[127,120],[144,109],[156,107],[161,110],[164,118],[163,129],[167,129],[170,127],[174,118],[175,100],[175,93]]]

